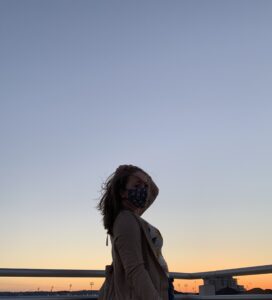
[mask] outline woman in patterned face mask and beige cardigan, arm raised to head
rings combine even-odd
[[[161,253],[163,238],[141,218],[156,199],[158,187],[141,168],[121,165],[102,189],[97,208],[110,235],[113,262],[106,266],[98,299],[174,299],[173,280]]]

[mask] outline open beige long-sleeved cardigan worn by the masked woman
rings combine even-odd
[[[98,299],[168,300],[168,277],[156,257],[147,222],[130,210],[121,210],[110,237],[112,280],[108,295],[103,284]]]

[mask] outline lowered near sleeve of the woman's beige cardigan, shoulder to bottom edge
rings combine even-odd
[[[113,234],[126,278],[139,300],[161,300],[145,269],[141,228],[131,212],[123,211],[118,215],[113,226]]]

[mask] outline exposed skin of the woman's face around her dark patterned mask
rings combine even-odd
[[[134,189],[147,187],[147,197],[149,194],[149,178],[146,174],[141,171],[137,171],[128,177],[128,181],[126,184],[126,189]],[[132,210],[133,212],[141,215],[144,208],[135,207],[132,203],[128,202],[128,191],[121,192],[121,197],[123,198],[123,204],[126,208]]]

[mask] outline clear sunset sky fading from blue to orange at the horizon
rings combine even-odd
[[[142,217],[170,271],[271,264],[271,28],[262,0],[1,0],[0,267],[110,264],[95,205],[120,164],[160,189]]]

